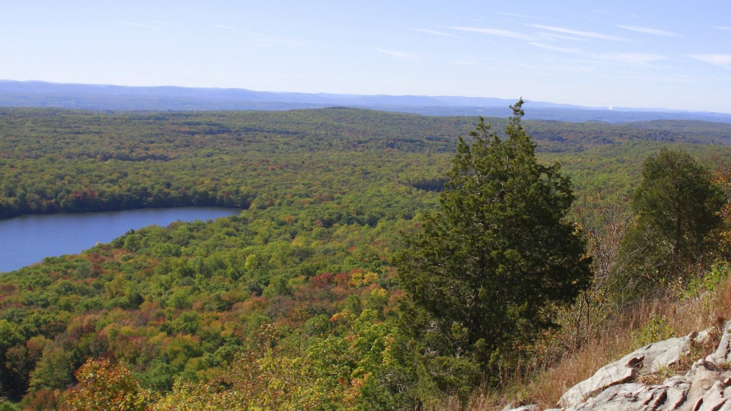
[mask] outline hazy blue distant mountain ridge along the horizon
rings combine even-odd
[[[389,96],[252,91],[244,88],[132,87],[0,80],[0,106],[83,110],[293,110],[357,107],[420,115],[510,115],[511,99],[462,96]],[[626,123],[705,120],[731,123],[731,114],[628,107],[583,107],[526,101],[526,119]]]

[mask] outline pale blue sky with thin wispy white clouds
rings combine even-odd
[[[0,79],[731,112],[731,1],[2,0]]]

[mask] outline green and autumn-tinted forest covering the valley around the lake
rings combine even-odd
[[[387,409],[453,393],[420,385],[394,256],[437,209],[458,136],[472,142],[476,125],[345,108],[0,109],[0,217],[246,208],[0,274],[0,396],[84,408],[96,387],[128,408]],[[586,231],[610,208],[629,215],[662,147],[709,165],[731,155],[731,126],[716,123],[524,126],[539,163],[560,161],[572,180],[569,218]],[[536,338],[515,349],[545,348]]]

